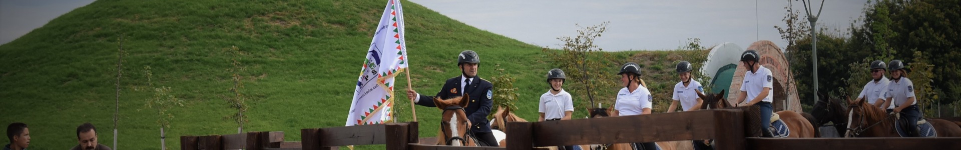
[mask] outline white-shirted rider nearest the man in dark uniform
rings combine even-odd
[[[547,83],[551,90],[541,94],[537,112],[540,112],[538,121],[544,120],[570,120],[574,113],[574,103],[571,93],[564,91],[564,71],[559,68],[551,69],[547,72]],[[574,146],[558,146],[561,150],[573,150]]]

